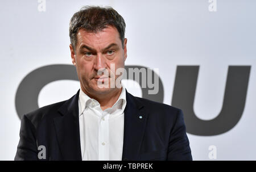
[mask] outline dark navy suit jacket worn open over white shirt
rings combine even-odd
[[[15,160],[38,160],[40,145],[42,160],[81,160],[78,99],[23,115]],[[192,160],[181,110],[127,91],[126,101],[122,160]]]

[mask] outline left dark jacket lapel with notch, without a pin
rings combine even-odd
[[[82,160],[78,99],[79,91],[59,108],[61,116],[53,119],[63,160]]]

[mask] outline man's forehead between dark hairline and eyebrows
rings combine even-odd
[[[108,26],[98,32],[88,32],[81,28],[77,32],[77,47],[90,45],[91,47],[104,46],[111,43],[121,44],[119,33],[115,27]]]

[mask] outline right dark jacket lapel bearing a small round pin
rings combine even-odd
[[[127,91],[126,101],[122,160],[139,160],[148,112],[143,104]]]

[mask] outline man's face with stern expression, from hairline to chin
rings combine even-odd
[[[89,95],[99,95],[108,94],[117,89],[110,87],[110,80],[113,84],[113,81],[115,82],[119,77],[115,71],[125,67],[126,43],[127,39],[124,41],[123,48],[117,29],[111,26],[97,33],[79,30],[76,53],[72,45],[69,47],[82,91]],[[114,68],[110,68],[110,65],[114,65]],[[104,73],[102,69],[105,69]],[[108,83],[108,87],[99,87],[98,83],[105,83],[105,85]]]

